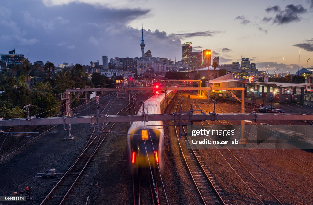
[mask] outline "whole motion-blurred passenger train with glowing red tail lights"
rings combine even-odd
[[[155,85],[154,95],[141,105],[137,115],[162,114],[176,90],[161,91],[160,85]],[[172,86],[178,87],[178,85]],[[163,121],[133,122],[128,130],[127,144],[131,173],[137,174],[142,170],[164,169]]]

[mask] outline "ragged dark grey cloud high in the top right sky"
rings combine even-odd
[[[300,14],[306,13],[307,10],[301,5],[289,4],[284,10],[281,10],[279,6],[268,7],[265,9],[266,12],[276,13],[275,17],[264,17],[264,22],[272,21],[276,24],[286,24],[291,22],[299,22],[301,20]]]

